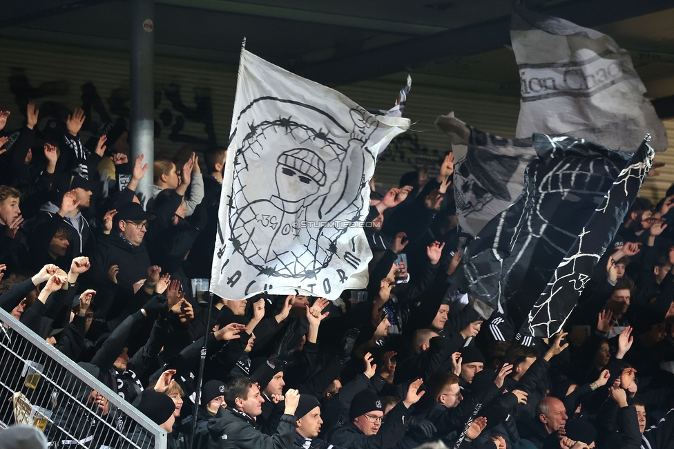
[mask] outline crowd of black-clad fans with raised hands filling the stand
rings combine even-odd
[[[14,318],[0,343],[21,321],[169,432],[169,448],[192,434],[213,449],[674,447],[674,192],[637,198],[549,340],[519,344],[520,323],[485,320],[448,282],[463,254],[451,153],[435,177],[373,189],[367,289],[215,297],[209,311],[191,280],[210,278],[226,150],[156,160],[153,198],[138,198],[148,166],[129,158],[123,120],[82,144],[81,110],[41,131],[35,104],[26,117],[0,137],[0,307]],[[103,394],[84,394],[114,421]],[[52,447],[86,434],[67,404],[53,412]]]

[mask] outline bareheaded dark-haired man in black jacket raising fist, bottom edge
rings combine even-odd
[[[276,432],[271,436],[257,429],[256,417],[262,413],[264,399],[258,385],[248,377],[233,379],[224,388],[227,409],[208,423],[210,449],[291,449],[295,437],[300,394],[288,390],[285,408]]]

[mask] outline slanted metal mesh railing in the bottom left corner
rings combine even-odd
[[[0,309],[0,426],[44,431],[50,449],[166,449],[166,431]]]

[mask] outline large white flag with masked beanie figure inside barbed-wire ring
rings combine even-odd
[[[242,50],[211,292],[336,299],[365,287],[368,182],[409,126]]]

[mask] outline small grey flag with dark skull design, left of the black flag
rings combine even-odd
[[[505,139],[441,115],[435,126],[450,137],[454,153],[454,202],[461,231],[476,236],[517,200],[524,170],[536,157],[528,139]]]

